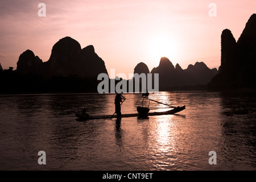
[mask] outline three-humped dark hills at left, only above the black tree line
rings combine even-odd
[[[81,49],[79,42],[68,36],[54,44],[49,60],[44,63],[31,50],[23,52],[19,56],[16,71],[20,74],[49,77],[108,74],[104,61],[94,51],[93,46]]]

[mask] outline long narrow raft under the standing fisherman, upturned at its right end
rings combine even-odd
[[[88,115],[88,114],[79,114],[76,113],[76,117],[81,120],[88,120],[88,119],[110,119],[110,118],[127,118],[127,117],[147,117],[151,115],[168,115],[168,114],[175,114],[185,109],[185,106],[182,107],[175,107],[174,109],[162,111],[162,112],[151,112],[147,114],[122,114],[120,117],[117,115]]]

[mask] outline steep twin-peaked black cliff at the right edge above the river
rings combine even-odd
[[[256,14],[250,16],[236,42],[228,29],[221,34],[220,73],[212,78],[209,89],[256,88]]]

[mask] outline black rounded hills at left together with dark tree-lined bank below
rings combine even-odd
[[[52,47],[48,61],[27,50],[19,56],[16,70],[10,67],[0,73],[0,93],[7,94],[97,92],[98,74],[108,74],[93,46],[81,49],[70,37]]]

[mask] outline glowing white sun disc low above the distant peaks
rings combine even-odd
[[[159,60],[160,57],[167,57],[171,60],[179,55],[176,40],[168,34],[152,36],[148,41],[148,52],[154,60]]]

